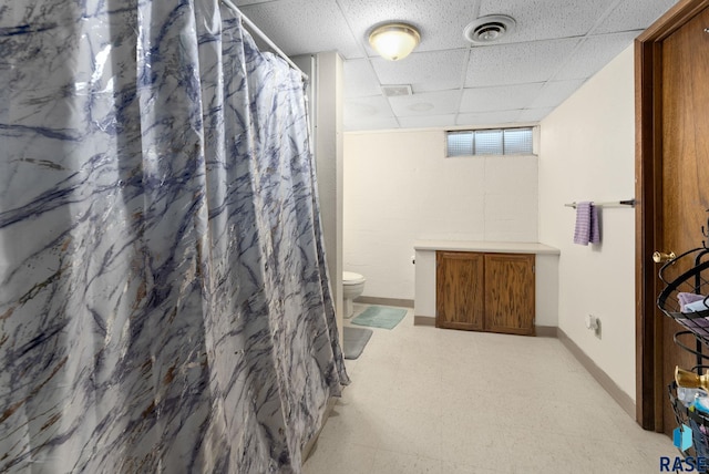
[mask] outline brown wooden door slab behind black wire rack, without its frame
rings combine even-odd
[[[662,228],[658,250],[677,255],[701,246],[709,209],[709,10],[695,17],[662,43]],[[685,267],[685,268],[681,268]],[[672,274],[691,265],[675,265]],[[662,286],[656,287],[659,295]],[[662,318],[662,381],[675,378],[675,367],[691,369],[695,357],[677,347],[672,336],[681,327]],[[667,398],[664,432],[677,426]]]

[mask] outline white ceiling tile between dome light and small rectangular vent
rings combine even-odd
[[[382,84],[411,84],[414,93],[460,89],[467,50],[413,53],[402,61],[373,58]]]

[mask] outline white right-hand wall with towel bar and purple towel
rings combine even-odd
[[[635,213],[602,210],[602,244],[573,244],[575,200],[635,193],[633,47],[541,124],[540,240],[561,249],[559,328],[635,400]],[[584,323],[600,318],[602,337]]]

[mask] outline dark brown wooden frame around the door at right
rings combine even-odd
[[[662,431],[662,320],[656,305],[657,266],[653,253],[662,221],[662,42],[709,7],[709,0],[682,0],[635,40],[636,192],[636,420]],[[709,28],[709,24],[707,25]]]

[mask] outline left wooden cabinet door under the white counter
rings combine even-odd
[[[436,251],[435,326],[483,330],[484,254]]]

